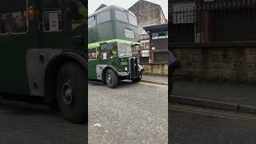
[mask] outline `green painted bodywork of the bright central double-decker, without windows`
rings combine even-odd
[[[90,14],[89,18],[92,16],[97,16],[106,10],[110,10],[110,21],[100,23],[96,26],[90,27],[88,29],[88,49],[97,47],[99,55],[101,55],[101,44],[102,43],[126,43],[131,45],[140,45],[138,36],[138,26],[133,26],[130,23],[120,22],[115,19],[115,10],[121,10],[126,12],[126,14],[134,15],[129,10],[124,10],[119,6],[106,6],[101,10]],[[134,17],[136,17],[134,15]],[[125,29],[134,31],[134,38],[126,38]],[[126,62],[127,65],[121,65],[121,62]],[[88,63],[88,78],[97,79],[96,66],[97,65],[107,65],[114,67],[118,72],[128,72],[125,68],[128,68],[129,58],[111,58],[102,59],[97,58],[96,60],[89,60]]]

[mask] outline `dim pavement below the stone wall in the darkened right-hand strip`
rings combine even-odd
[[[174,81],[173,95],[256,106],[256,85]]]

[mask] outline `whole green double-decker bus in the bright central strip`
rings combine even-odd
[[[88,78],[106,82],[110,88],[122,79],[139,82],[142,66],[133,57],[139,46],[136,16],[119,6],[106,6],[88,18]]]

